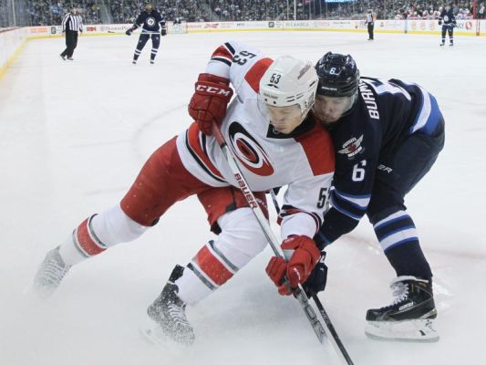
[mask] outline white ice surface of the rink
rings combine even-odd
[[[349,53],[361,75],[401,78],[429,89],[446,120],[446,147],[407,198],[434,272],[436,343],[367,339],[367,308],[388,305],[395,276],[367,219],[328,248],[326,310],[357,365],[484,363],[486,328],[486,39],[331,32],[194,34],[163,37],[139,64],[138,35],[80,37],[75,61],[64,39],[30,41],[0,79],[0,363],[337,364],[319,345],[293,298],[279,297],[264,267],[270,247],[228,284],[188,310],[191,349],[161,350],[138,327],[172,267],[212,238],[197,199],[175,205],[136,242],[75,266],[56,295],[28,288],[47,250],[89,214],[119,202],[142,163],[189,126],[193,83],[212,50],[235,39],[270,57],[315,62]],[[413,163],[413,162],[410,162]],[[273,224],[274,231],[278,227]]]

